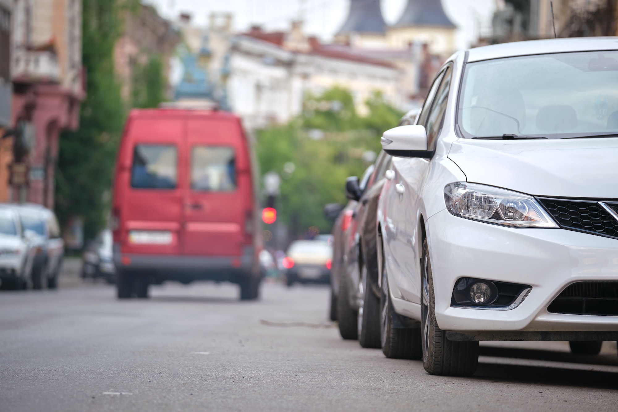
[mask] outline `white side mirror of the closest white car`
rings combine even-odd
[[[386,130],[380,143],[386,153],[397,158],[433,158],[434,151],[427,148],[427,132],[422,125],[399,126]]]

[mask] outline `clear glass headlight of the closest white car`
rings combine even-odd
[[[532,196],[476,183],[444,188],[446,207],[455,216],[511,227],[558,227]]]

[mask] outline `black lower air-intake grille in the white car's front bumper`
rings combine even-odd
[[[618,282],[577,282],[547,308],[551,313],[618,315]]]

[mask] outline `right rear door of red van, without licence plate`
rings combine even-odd
[[[240,256],[250,180],[242,130],[233,119],[187,119],[184,253]]]

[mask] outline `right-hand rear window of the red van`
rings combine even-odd
[[[191,188],[197,191],[232,191],[236,188],[234,148],[193,146]]]

